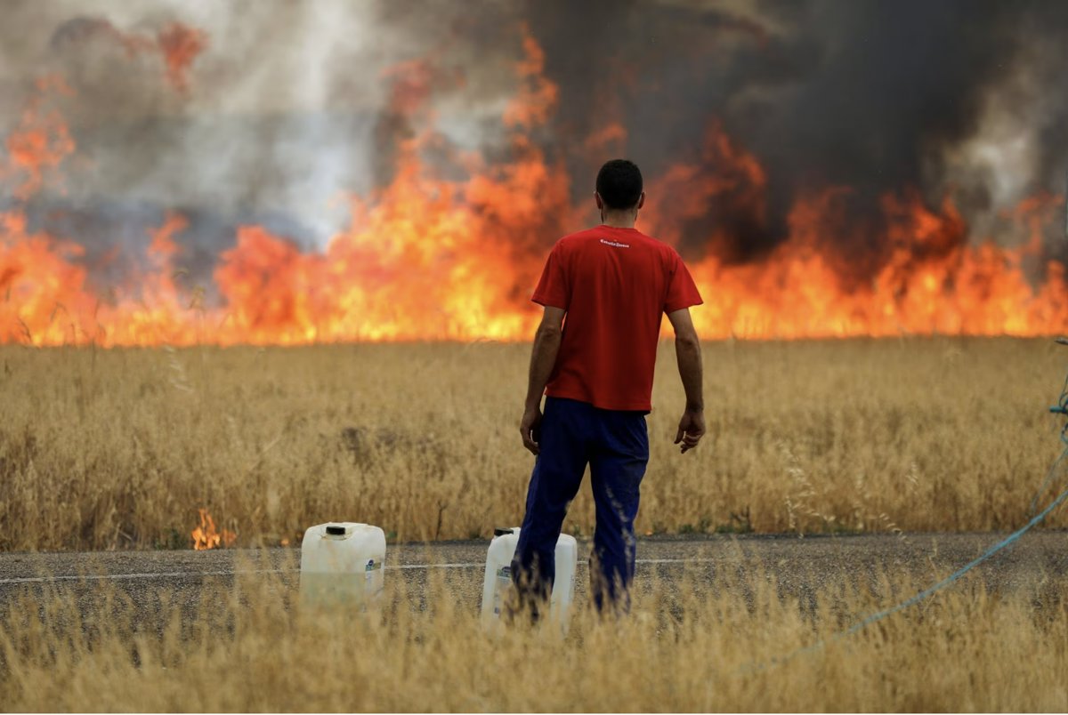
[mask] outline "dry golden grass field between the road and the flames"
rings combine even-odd
[[[522,517],[529,350],[0,348],[0,550],[184,549],[204,507],[237,545],[328,520],[485,538]],[[643,533],[1006,529],[1059,451],[1048,339],[712,343],[705,365],[711,435],[679,455],[661,348]],[[583,491],[565,529],[592,526]]]

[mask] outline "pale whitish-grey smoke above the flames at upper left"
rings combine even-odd
[[[220,225],[252,217],[319,245],[347,221],[345,196],[383,178],[375,157],[389,147],[376,124],[390,67],[447,48],[462,82],[436,97],[435,120],[473,147],[492,139],[485,125],[514,90],[509,63],[520,51],[513,42],[511,57],[474,58],[450,46],[464,3],[400,16],[387,2],[347,0],[9,4],[0,130],[17,123],[32,78],[67,78],[75,95],[61,105],[78,150],[65,166],[65,201],[193,208],[222,217]],[[158,53],[130,53],[110,30],[151,37],[173,21],[207,35],[187,93],[167,82]]]

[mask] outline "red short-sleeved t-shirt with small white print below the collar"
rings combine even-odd
[[[603,225],[556,241],[532,300],[567,311],[546,394],[644,412],[663,314],[702,303],[675,249]]]

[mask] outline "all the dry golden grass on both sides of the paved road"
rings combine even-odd
[[[649,533],[1019,526],[1051,461],[1068,350],[909,338],[705,345],[710,436],[679,455],[671,344],[649,415]],[[0,549],[234,545],[351,519],[396,540],[521,518],[529,346],[0,349]],[[1061,484],[1047,494],[1051,498]],[[1055,512],[1045,526],[1064,526]],[[588,536],[583,494],[565,528]],[[285,553],[285,552],[283,552]],[[367,613],[278,573],[129,590],[28,585],[0,603],[4,711],[1064,711],[1068,581],[823,573],[804,598],[739,553],[645,574],[630,616],[566,637],[478,623],[470,573],[391,576]],[[798,568],[803,571],[803,565]]]

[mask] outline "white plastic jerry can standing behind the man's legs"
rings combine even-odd
[[[486,577],[482,587],[482,622],[487,629],[500,623],[501,608],[512,588],[512,558],[519,543],[518,528],[493,529],[486,555]],[[575,600],[575,574],[579,547],[575,537],[561,534],[556,539],[556,578],[549,599],[549,618],[567,631],[567,617]]]

